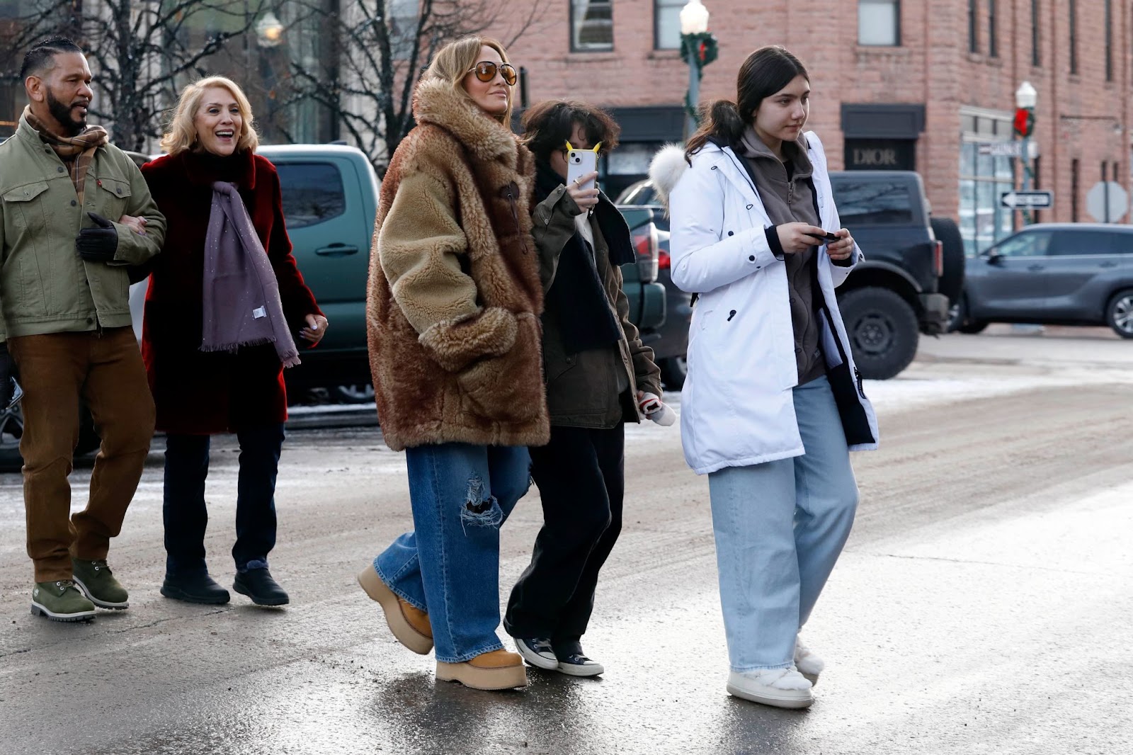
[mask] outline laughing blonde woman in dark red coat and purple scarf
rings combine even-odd
[[[287,419],[283,366],[298,363],[292,333],[314,346],[326,330],[291,256],[279,175],[255,154],[257,144],[240,88],[205,78],[181,93],[161,143],[169,154],[142,169],[168,222],[142,336],[157,430],[167,434],[161,593],[193,603],[229,600],[208,576],[204,549],[208,441],[224,432],[240,443],[233,588],[262,605],[288,602],[267,570]]]

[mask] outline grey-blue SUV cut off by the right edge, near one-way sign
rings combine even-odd
[[[1106,324],[1133,338],[1133,228],[1037,223],[968,266],[957,330],[989,322]]]

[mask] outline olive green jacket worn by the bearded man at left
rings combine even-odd
[[[130,324],[128,265],[161,251],[165,218],[142,171],[113,145],[99,147],[86,173],[85,203],[62,161],[24,118],[0,144],[0,341]],[[75,251],[87,212],[114,223],[112,262],[85,262]],[[146,219],[140,236],[117,222]]]

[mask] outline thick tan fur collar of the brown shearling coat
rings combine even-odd
[[[516,135],[448,82],[434,78],[417,85],[414,118],[451,133],[479,160],[503,159],[516,166]]]

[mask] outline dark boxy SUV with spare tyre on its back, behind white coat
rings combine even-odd
[[[960,231],[929,217],[914,172],[835,171],[830,183],[842,224],[866,252],[837,291],[854,362],[863,378],[893,378],[912,362],[920,333],[947,326],[964,274]],[[656,193],[639,181],[617,201],[648,204]]]

